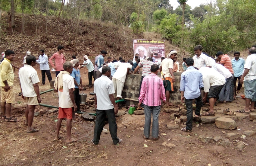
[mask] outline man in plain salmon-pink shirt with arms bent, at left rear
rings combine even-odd
[[[58,49],[58,52],[53,54],[53,56],[49,59],[49,62],[51,63],[52,68],[56,70],[55,72],[56,77],[61,71],[64,71],[63,64],[66,62],[66,59],[63,55],[64,47],[58,46],[57,49]],[[55,66],[52,62],[52,59],[55,59]]]

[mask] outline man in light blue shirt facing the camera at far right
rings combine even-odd
[[[236,98],[236,92],[240,93],[240,89],[242,87],[242,84],[240,83],[240,78],[242,77],[243,70],[244,70],[244,65],[245,65],[245,60],[242,58],[239,58],[240,52],[236,51],[234,52],[234,59],[231,60],[232,63],[232,68],[234,71],[234,87],[235,87],[235,94],[234,98]],[[238,86],[236,88],[236,80],[238,79]]]

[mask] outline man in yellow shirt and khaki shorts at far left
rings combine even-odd
[[[11,104],[14,103],[14,73],[11,61],[14,58],[15,53],[11,50],[6,50],[5,59],[0,65],[2,119],[8,122],[17,122],[17,119],[11,117]]]

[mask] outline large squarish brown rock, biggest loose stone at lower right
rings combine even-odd
[[[215,120],[215,124],[220,129],[236,129],[236,122],[230,118],[220,117]]]

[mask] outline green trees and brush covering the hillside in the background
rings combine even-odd
[[[15,16],[19,15],[20,32],[27,36],[27,18],[34,15],[39,18],[35,42],[47,40],[52,26],[66,26],[60,31],[68,34],[66,45],[70,47],[75,47],[79,36],[86,33],[81,28],[86,21],[108,25],[104,35],[111,38],[108,44],[116,49],[125,44],[119,39],[125,38],[127,28],[133,38],[144,38],[145,32],[161,34],[163,40],[180,47],[180,53],[192,53],[200,44],[214,56],[217,51],[231,53],[256,43],[255,0],[209,1],[194,9],[186,5],[189,0],[177,1],[180,6],[173,10],[168,0],[0,0],[0,35],[6,35],[3,29],[12,31],[18,26]],[[1,21],[3,13],[8,14],[8,24]],[[53,20],[59,25],[53,25]]]

